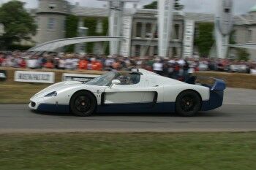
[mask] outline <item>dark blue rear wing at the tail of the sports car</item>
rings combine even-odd
[[[189,77],[189,79],[186,81],[188,84],[191,85],[195,85],[197,80],[203,80],[203,81],[213,81],[213,83],[211,83],[211,85],[206,84],[205,82],[200,84],[203,85],[205,87],[208,87],[211,89],[211,91],[221,91],[221,90],[225,90],[226,89],[226,83],[224,80],[221,79],[217,79],[217,78],[213,78],[213,77],[196,77],[196,76],[192,76]]]

